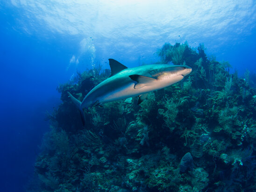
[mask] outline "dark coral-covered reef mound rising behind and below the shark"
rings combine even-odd
[[[157,54],[192,73],[139,106],[128,98],[92,107],[84,127],[67,92],[82,100],[110,71],[97,66],[58,87],[63,103],[49,116],[35,191],[256,191],[254,76],[230,74],[203,45],[165,43]]]

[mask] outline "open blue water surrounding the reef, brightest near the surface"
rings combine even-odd
[[[203,43],[243,76],[256,72],[256,4],[248,1],[0,0],[0,191],[24,191],[45,113],[60,83],[108,58],[128,67],[159,60],[164,43]]]

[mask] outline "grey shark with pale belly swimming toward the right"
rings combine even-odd
[[[140,104],[149,92],[177,83],[192,71],[188,66],[171,64],[149,64],[128,68],[114,59],[108,60],[111,76],[88,92],[82,102],[68,92],[80,111],[83,123],[84,108],[135,96],[139,96]]]

